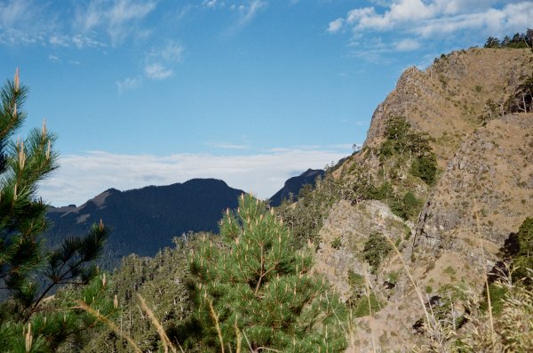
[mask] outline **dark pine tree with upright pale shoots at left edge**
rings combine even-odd
[[[99,256],[108,230],[94,225],[84,238],[68,238],[56,250],[44,249],[46,205],[36,196],[37,183],[57,168],[55,136],[43,124],[26,140],[12,135],[26,117],[27,88],[19,72],[0,92],[0,350],[56,351],[95,318],[76,307],[72,292],[50,300],[59,285],[84,285],[84,302],[108,313],[105,276],[91,262]],[[91,283],[90,283],[91,282]],[[47,299],[47,300],[45,300]]]

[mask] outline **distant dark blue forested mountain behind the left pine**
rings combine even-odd
[[[242,193],[214,179],[123,192],[108,189],[79,207],[52,207],[47,214],[52,229],[44,237],[56,245],[64,237],[84,234],[101,219],[113,229],[103,259],[112,268],[130,253],[154,256],[184,232],[218,231],[220,214],[235,208]]]

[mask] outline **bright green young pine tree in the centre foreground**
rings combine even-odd
[[[242,196],[220,221],[220,242],[193,253],[197,319],[213,351],[338,352],[346,308],[311,273],[311,247],[296,252],[290,231],[262,201]]]

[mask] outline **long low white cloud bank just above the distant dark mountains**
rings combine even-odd
[[[41,183],[40,195],[52,205],[81,205],[109,188],[136,189],[192,178],[217,178],[233,188],[267,198],[281,189],[295,171],[323,168],[351,151],[331,147],[282,148],[251,156],[132,156],[92,151],[81,156],[62,156],[60,169]]]

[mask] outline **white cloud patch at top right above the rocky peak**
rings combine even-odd
[[[330,33],[351,29],[350,43],[358,47],[354,55],[370,60],[386,52],[417,50],[430,39],[460,42],[468,37],[484,41],[487,36],[522,32],[531,27],[533,19],[531,0],[376,0],[373,3],[378,6],[354,8],[345,17],[331,21],[328,27]],[[372,43],[376,32],[386,34],[385,46]]]

